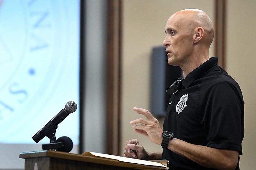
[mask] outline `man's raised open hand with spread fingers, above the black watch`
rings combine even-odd
[[[161,128],[158,120],[154,116],[152,116],[148,110],[137,107],[133,107],[133,110],[138,114],[144,115],[147,118],[140,118],[131,121],[130,124],[132,125],[141,123],[139,125],[132,126],[134,128],[134,131],[147,136],[153,143],[161,145],[163,140],[163,129]]]

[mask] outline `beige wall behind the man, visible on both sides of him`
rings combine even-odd
[[[177,3],[179,2],[179,3]],[[164,27],[167,19],[176,11],[186,8],[198,8],[205,11],[212,21],[214,18],[214,0],[124,0],[123,1],[123,73],[122,73],[122,149],[125,142],[139,139],[148,151],[161,152],[161,146],[152,144],[146,137],[136,134],[130,121],[141,116],[132,111],[133,107],[149,109],[150,55],[152,47],[161,46],[165,37]],[[244,155],[241,157],[241,169],[255,169],[255,111],[253,94],[250,88],[255,81],[255,2],[228,2],[228,54],[227,71],[241,85],[244,93],[245,128],[243,142]],[[253,5],[252,5],[253,3]],[[238,11],[238,12],[237,12]],[[239,13],[241,11],[241,13]],[[243,12],[242,12],[243,11]],[[251,11],[251,13],[250,13]],[[237,22],[238,20],[238,22]],[[254,25],[252,25],[254,22]],[[249,42],[248,42],[249,41]],[[213,56],[212,44],[210,56]],[[254,49],[254,51],[252,50]],[[167,58],[166,58],[167,62]],[[239,68],[239,69],[238,69]],[[246,68],[246,69],[245,69]],[[250,70],[251,69],[251,70]],[[251,100],[250,100],[251,99]],[[160,120],[162,122],[163,120]],[[123,153],[120,153],[121,155]],[[254,159],[254,162],[253,162]]]

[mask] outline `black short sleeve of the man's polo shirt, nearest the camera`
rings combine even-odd
[[[203,89],[197,97],[202,97],[203,102],[197,108],[208,141],[206,146],[237,150],[242,155],[244,101],[238,84],[216,81]]]

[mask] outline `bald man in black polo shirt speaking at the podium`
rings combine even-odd
[[[211,19],[201,10],[178,11],[168,19],[165,32],[168,63],[180,66],[184,80],[171,95],[163,129],[142,108],[133,110],[147,119],[130,122],[135,132],[162,145],[163,152],[146,152],[132,139],[126,142],[124,156],[168,159],[170,169],[239,169],[244,101],[236,81],[217,65],[216,57],[209,58]]]

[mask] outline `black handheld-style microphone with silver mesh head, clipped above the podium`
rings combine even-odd
[[[70,113],[75,112],[77,109],[77,104],[74,101],[68,101],[65,107],[50,120],[41,130],[39,130],[32,138],[38,143],[45,136],[51,136],[51,134],[55,137],[56,128],[58,128],[58,124],[62,122]],[[49,137],[50,138],[50,137]],[[55,138],[56,139],[56,138]]]

